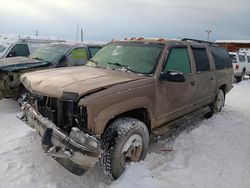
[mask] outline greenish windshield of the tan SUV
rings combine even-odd
[[[162,44],[155,43],[111,43],[103,47],[87,65],[152,74],[162,49]]]

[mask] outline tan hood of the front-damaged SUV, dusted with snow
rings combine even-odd
[[[61,98],[63,92],[83,96],[114,84],[145,76],[88,66],[49,69],[24,74],[20,81],[32,93]]]

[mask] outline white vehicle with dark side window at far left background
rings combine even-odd
[[[25,39],[0,41],[0,59],[17,56],[29,56],[38,48],[52,42],[65,42],[64,40]]]

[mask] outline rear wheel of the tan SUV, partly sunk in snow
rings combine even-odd
[[[218,89],[214,102],[210,105],[211,111],[205,115],[210,118],[213,114],[218,114],[225,104],[225,93],[222,89]]]

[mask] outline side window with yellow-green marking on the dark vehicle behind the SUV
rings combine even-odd
[[[85,65],[88,59],[88,52],[86,48],[76,48],[71,51],[67,60],[67,66]]]

